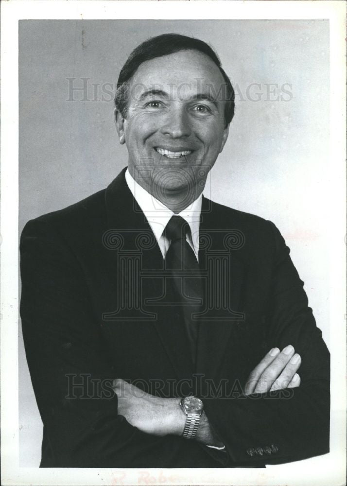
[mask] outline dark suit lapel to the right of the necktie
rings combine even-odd
[[[200,322],[196,369],[211,378],[218,376],[233,331],[244,319],[240,311],[244,264],[232,244],[236,228],[221,220],[217,211],[204,198],[199,264],[205,275],[206,311]]]

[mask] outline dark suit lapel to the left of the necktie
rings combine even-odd
[[[123,287],[130,289],[132,302],[138,302],[140,309],[134,314],[136,305],[132,304],[132,309],[123,309],[117,319],[121,320],[124,316],[124,320],[131,324],[132,313],[135,315],[133,321],[143,318],[144,325],[154,326],[177,379],[182,379],[193,372],[188,337],[181,316],[170,306],[154,302],[163,295],[163,258],[152,229],[126,184],[125,171],[105,192],[109,239],[112,240],[113,235],[114,241],[119,244],[116,251],[109,252],[109,258],[115,278],[119,279],[118,296]],[[128,275],[124,275],[126,261],[129,260],[136,272],[134,282],[138,283],[135,285],[129,282]],[[133,263],[135,261],[136,264]],[[126,295],[122,297],[126,299]],[[148,352],[151,353],[151,349]]]

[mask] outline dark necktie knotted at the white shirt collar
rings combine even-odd
[[[183,218],[173,216],[166,225],[164,234],[171,240],[165,257],[165,269],[173,281],[175,295],[182,307],[195,363],[198,319],[194,314],[202,310],[203,287],[198,261],[186,239],[187,234],[191,235],[191,230]]]

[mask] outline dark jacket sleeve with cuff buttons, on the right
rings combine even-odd
[[[208,399],[205,410],[234,463],[278,464],[329,452],[330,354],[278,229],[271,222],[274,265],[267,342],[292,344],[302,359],[298,388]],[[251,370],[249,370],[250,372]]]

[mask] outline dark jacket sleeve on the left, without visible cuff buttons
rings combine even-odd
[[[20,253],[23,337],[46,441],[41,467],[218,466],[197,442],[142,433],[117,414],[86,281],[58,231],[29,222]]]

